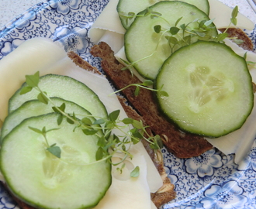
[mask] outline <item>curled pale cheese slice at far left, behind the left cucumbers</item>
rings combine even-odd
[[[25,81],[25,74],[33,74],[35,69],[43,69],[45,74],[50,73],[47,68],[64,57],[67,57],[64,47],[57,46],[51,39],[44,38],[35,38],[22,43],[12,52],[12,56],[3,57],[0,62],[0,119],[4,121],[8,112],[6,101],[9,101],[12,94]]]

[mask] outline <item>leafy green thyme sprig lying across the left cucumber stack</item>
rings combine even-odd
[[[130,147],[137,142],[140,142],[141,139],[147,140],[150,143],[151,149],[161,149],[161,138],[159,135],[149,135],[147,132],[147,126],[144,126],[142,121],[134,120],[133,118],[119,118],[120,110],[112,111],[109,113],[108,118],[97,118],[96,115],[79,115],[83,118],[78,119],[75,113],[67,113],[65,111],[65,103],[61,106],[54,105],[54,101],[51,100],[50,96],[47,95],[47,92],[40,89],[40,74],[36,72],[33,75],[26,75],[26,86],[22,87],[20,94],[26,94],[29,91],[35,89],[38,91],[37,99],[43,104],[48,105],[49,103],[52,106],[54,112],[58,113],[57,125],[61,125],[64,119],[69,124],[75,125],[73,131],[77,128],[81,128],[82,132],[85,135],[96,135],[98,137],[99,149],[95,154],[96,162],[101,162],[102,160],[109,160],[111,162],[111,157],[116,152],[123,153],[123,159],[120,159],[118,163],[112,163],[113,166],[117,166],[120,163],[123,163],[125,159],[132,159],[133,156],[129,152]],[[95,119],[95,121],[92,120]],[[58,128],[51,128],[47,130],[45,127],[42,130],[38,128],[29,127],[34,132],[37,132],[43,135],[46,144],[47,151],[49,151],[54,156],[61,158],[61,148],[54,145],[49,145],[47,142],[47,132],[57,130]],[[128,128],[128,131],[127,131]],[[113,130],[118,130],[118,135],[112,133]],[[138,169],[136,168],[134,173],[137,173]],[[135,175],[135,174],[134,174]],[[133,176],[134,176],[133,175]],[[135,175],[136,176],[136,175]]]

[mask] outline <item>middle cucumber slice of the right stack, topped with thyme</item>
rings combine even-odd
[[[171,47],[169,46],[166,36],[171,36],[169,33],[170,27],[175,26],[178,19],[182,17],[178,26],[182,24],[189,24],[189,28],[197,28],[198,22],[194,22],[195,19],[209,20],[208,15],[202,12],[194,5],[189,5],[185,2],[170,1],[170,2],[158,2],[150,7],[153,12],[161,13],[161,18],[151,18],[151,15],[143,15],[144,12],[140,12],[130,28],[125,34],[125,52],[126,58],[130,63],[135,63],[134,67],[143,77],[147,79],[154,79],[157,76],[158,70],[161,68],[162,63],[171,55]],[[164,21],[167,20],[166,21]],[[161,25],[162,29],[166,29],[163,34],[155,33],[154,26]],[[213,29],[208,32],[209,36],[216,36],[217,31],[213,23],[210,24]],[[181,40],[182,29],[174,37]],[[185,33],[187,36],[188,33]],[[195,42],[198,39],[209,39],[209,36],[201,37],[193,36],[191,42]],[[178,49],[178,45],[175,45],[175,49]],[[153,55],[151,55],[153,54]],[[147,57],[147,58],[146,58]],[[146,58],[146,59],[145,59]]]

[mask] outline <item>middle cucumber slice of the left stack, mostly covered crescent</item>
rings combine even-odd
[[[73,114],[73,112],[75,112],[77,118],[79,119],[87,115],[91,115],[91,113],[85,110],[85,108],[82,108],[81,106],[75,104],[72,101],[67,101],[61,98],[51,98],[51,100],[56,106],[61,106],[63,103],[65,103],[65,112],[70,114]],[[12,128],[16,127],[16,125],[19,125],[19,123],[22,122],[24,119],[54,112],[52,107],[53,105],[51,103],[45,105],[39,100],[29,100],[23,103],[19,108],[17,108],[15,111],[12,111],[5,118],[5,122],[2,125],[0,142],[2,142],[2,139],[4,139],[5,135],[12,131]]]

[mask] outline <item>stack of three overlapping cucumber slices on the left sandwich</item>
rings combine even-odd
[[[48,74],[40,77],[39,85],[55,105],[74,111],[77,120],[88,116],[95,122],[91,112],[107,117],[97,95],[71,77]],[[85,135],[67,120],[59,123],[60,114],[52,104],[36,100],[34,88],[19,94],[24,87],[10,99],[2,127],[0,163],[9,190],[36,208],[95,207],[112,182],[111,163],[96,162],[101,133]]]

